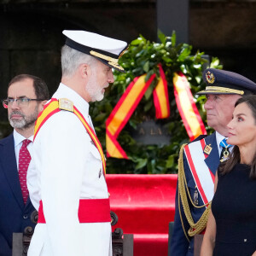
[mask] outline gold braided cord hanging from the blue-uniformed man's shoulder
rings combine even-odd
[[[178,180],[178,211],[179,211],[179,216],[180,216],[182,226],[183,226],[183,232],[189,241],[189,237],[187,236],[187,232],[184,229],[184,225],[183,225],[183,218],[182,218],[181,207],[180,207],[180,199],[181,199],[182,206],[183,206],[183,212],[185,213],[185,216],[190,225],[189,231],[188,231],[189,236],[195,236],[196,234],[200,234],[201,231],[206,228],[212,201],[209,201],[207,204],[205,204],[201,207],[197,207],[197,206],[195,206],[194,202],[191,199],[191,196],[189,194],[188,184],[186,181],[185,172],[184,172],[184,166],[183,166],[183,148],[186,145],[187,144],[183,144],[179,151],[177,180]],[[208,206],[197,223],[195,223],[194,219],[192,218],[192,215],[191,215],[191,212],[189,209],[189,201],[188,201],[187,195],[189,195],[189,201],[191,202],[193,207],[202,208],[202,207]]]

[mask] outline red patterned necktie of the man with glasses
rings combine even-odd
[[[20,188],[22,192],[22,197],[24,204],[26,204],[28,198],[28,189],[26,187],[26,172],[29,166],[31,156],[27,150],[27,145],[31,143],[30,140],[24,140],[20,148],[19,154],[19,178],[20,178]]]

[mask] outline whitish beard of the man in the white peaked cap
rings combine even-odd
[[[106,84],[104,86],[104,88],[107,88],[107,87],[108,87],[108,84]],[[87,90],[88,94],[90,95],[91,102],[102,101],[102,99],[104,97],[104,92],[102,92],[103,88],[97,84],[96,72],[94,72],[92,74],[90,80],[86,84],[86,90]]]

